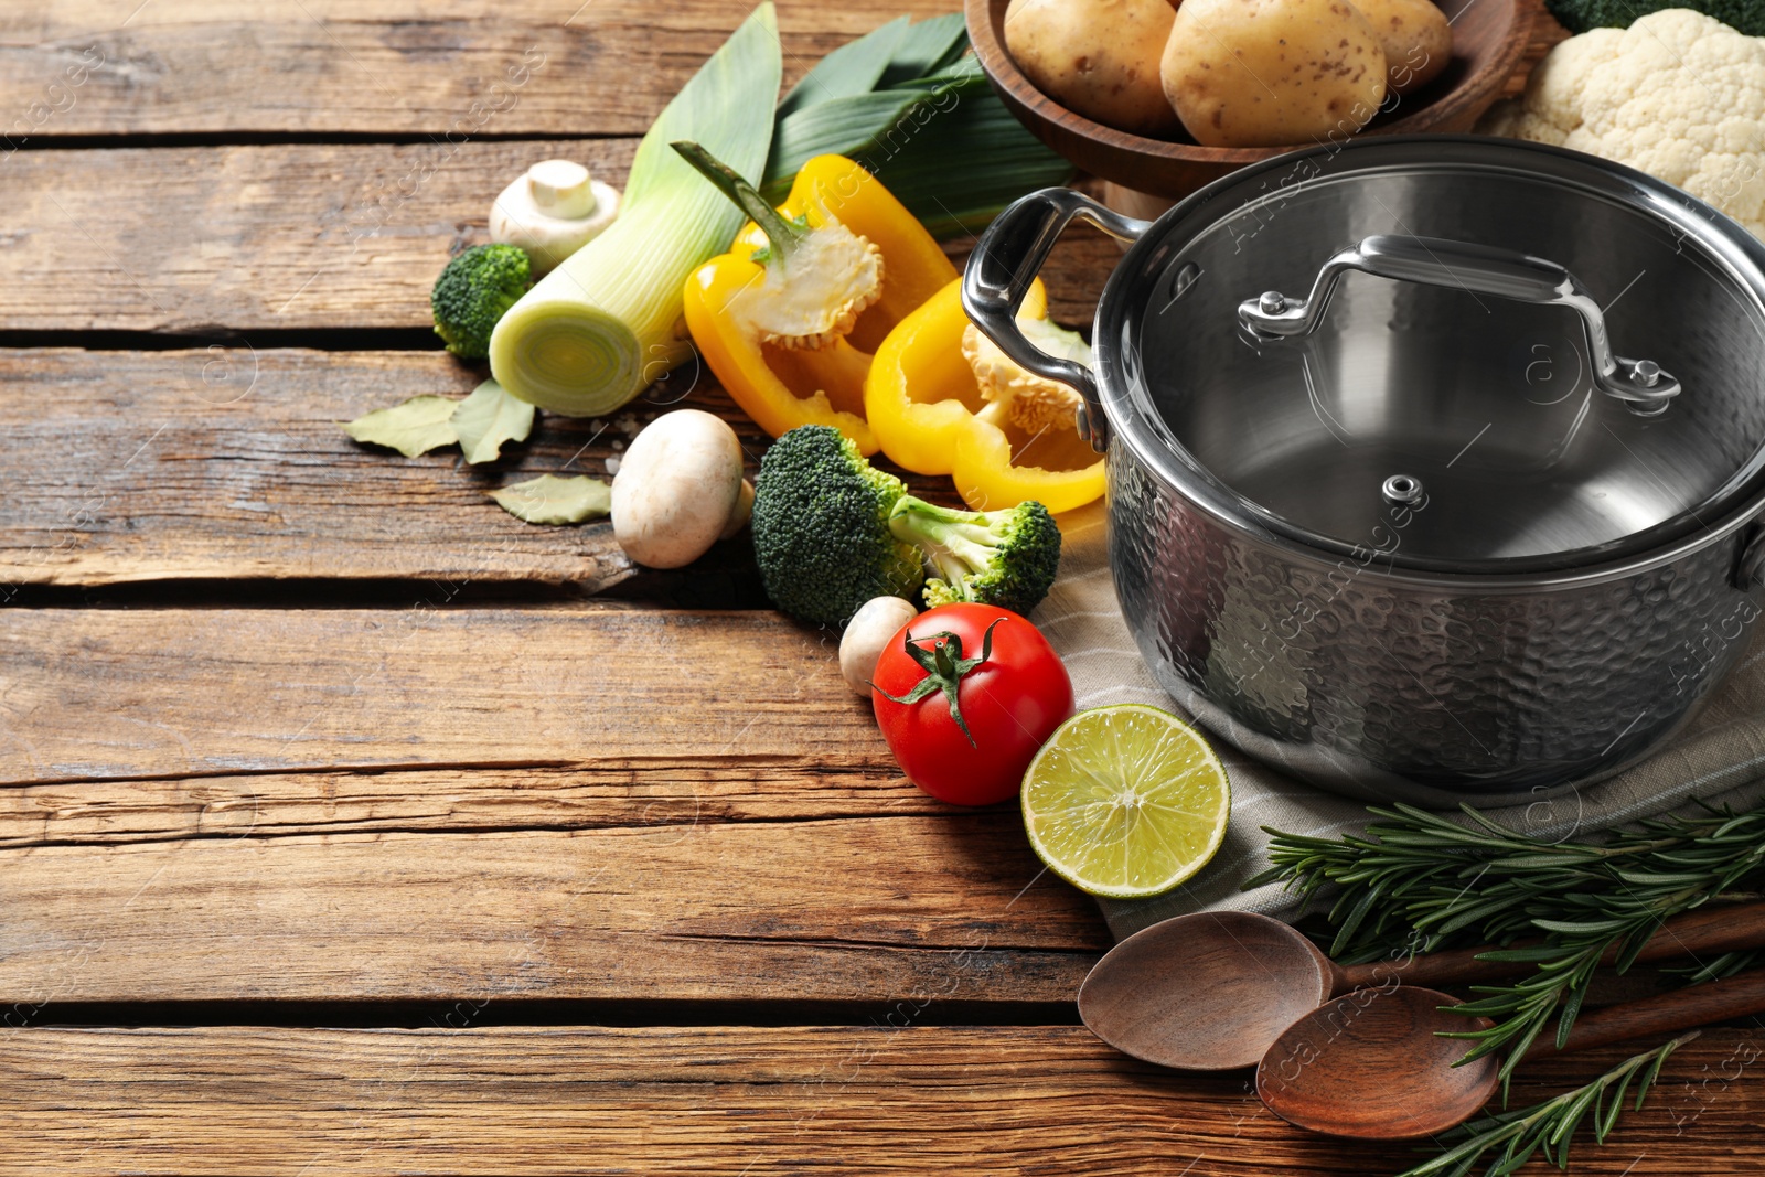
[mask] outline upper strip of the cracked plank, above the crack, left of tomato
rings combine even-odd
[[[632,757],[888,764],[773,612],[0,611],[0,783]]]

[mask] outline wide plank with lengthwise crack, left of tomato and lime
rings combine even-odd
[[[0,785],[4,1001],[1066,1001],[1108,944],[770,612],[0,611]]]

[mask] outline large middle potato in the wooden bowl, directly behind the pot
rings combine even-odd
[[[1348,0],[1183,0],[1160,72],[1205,146],[1340,141],[1386,101],[1386,53]]]

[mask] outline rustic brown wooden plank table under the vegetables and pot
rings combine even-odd
[[[950,0],[784,0],[789,78],[900,7]],[[641,574],[485,498],[681,397],[759,454],[704,372],[489,469],[339,432],[473,386],[429,332],[448,252],[535,159],[621,180],[743,9],[0,16],[5,1173],[1410,1159],[1094,1041],[1091,902],[1010,808],[898,776],[741,542]],[[1063,318],[1114,256],[1063,247]],[[1576,1166],[1756,1172],[1758,1055],[1707,1034]]]

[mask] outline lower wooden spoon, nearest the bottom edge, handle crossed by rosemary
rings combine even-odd
[[[1438,1006],[1446,993],[1398,985],[1361,990],[1290,1025],[1257,1068],[1257,1094],[1288,1124],[1356,1140],[1408,1140],[1463,1124],[1497,1089],[1498,1062],[1484,1055],[1453,1066],[1470,1043],[1438,1031],[1488,1027]],[[1588,1050],[1650,1034],[1765,1013],[1765,969],[1581,1015],[1564,1050]],[[1527,1059],[1555,1053],[1534,1041]]]

